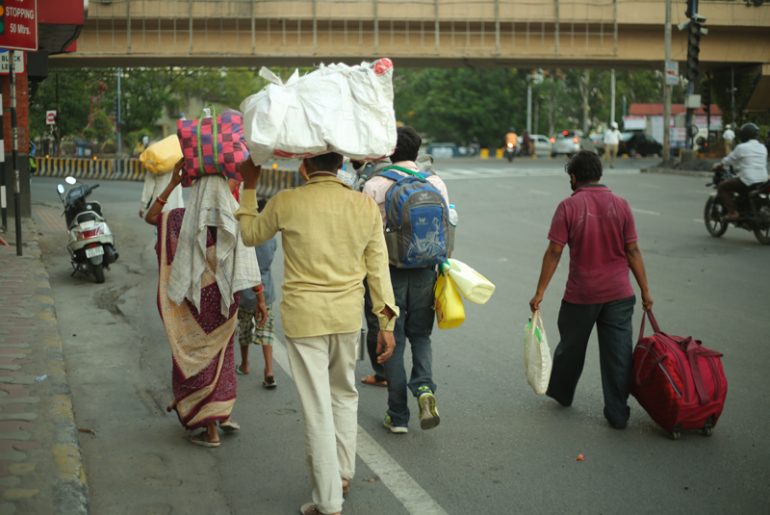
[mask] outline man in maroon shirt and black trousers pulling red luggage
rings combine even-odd
[[[569,245],[569,277],[558,320],[561,341],[554,352],[547,395],[563,406],[572,404],[596,325],[604,416],[612,427],[623,429],[630,412],[631,317],[636,302],[628,269],[639,285],[645,311],[652,308],[647,274],[631,208],[626,199],[599,184],[599,157],[580,151],[566,170],[574,193],[556,208],[537,291],[529,301],[533,312],[540,309],[562,250]]]

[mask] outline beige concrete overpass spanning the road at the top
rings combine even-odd
[[[673,24],[685,21],[673,2]],[[705,69],[770,63],[770,5],[701,0]],[[660,68],[664,0],[91,0],[52,66],[307,65]],[[673,57],[686,60],[673,30]]]

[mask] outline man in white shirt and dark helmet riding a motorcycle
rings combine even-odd
[[[767,180],[767,148],[759,142],[759,127],[744,123],[738,130],[741,144],[735,147],[715,169],[732,166],[737,177],[723,181],[717,187],[717,195],[727,209],[726,220],[735,221],[740,215],[735,210],[733,193],[746,195],[753,184]]]

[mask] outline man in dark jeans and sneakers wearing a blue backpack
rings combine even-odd
[[[413,128],[399,127],[396,150],[390,156],[394,165],[392,170],[404,177],[419,174],[420,167],[415,161],[421,143],[420,135]],[[449,194],[444,181],[435,174],[427,175],[426,181],[440,193],[448,208]],[[364,185],[364,194],[372,197],[380,207],[381,228],[385,227],[388,218],[385,213],[385,197],[393,184],[394,181],[380,175]],[[436,383],[433,381],[433,351],[430,340],[435,318],[433,288],[436,284],[436,270],[433,266],[391,266],[390,280],[402,316],[396,322],[396,351],[384,367],[388,382],[388,411],[384,425],[391,433],[403,434],[408,432],[410,417],[407,391],[417,399],[422,429],[434,428],[441,420],[436,407]],[[404,369],[407,339],[412,350],[411,375],[408,380]]]

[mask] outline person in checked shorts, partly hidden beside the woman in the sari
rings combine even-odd
[[[258,212],[262,212],[266,202],[265,199],[259,200],[257,203]],[[273,389],[277,386],[273,372],[273,343],[275,342],[273,300],[275,299],[275,291],[273,275],[270,271],[277,246],[275,238],[271,238],[255,248],[267,311],[265,323],[255,323],[256,303],[258,301],[256,290],[245,290],[241,295],[241,303],[238,307],[238,343],[241,347],[241,364],[238,365],[236,372],[241,375],[249,374],[249,346],[251,344],[259,345],[262,347],[262,357],[265,361],[262,386],[267,389]]]

